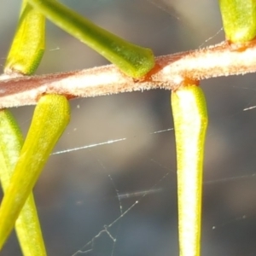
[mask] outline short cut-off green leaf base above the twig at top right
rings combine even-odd
[[[219,0],[225,36],[231,43],[245,43],[256,36],[255,0]]]

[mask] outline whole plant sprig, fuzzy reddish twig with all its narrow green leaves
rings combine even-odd
[[[202,79],[256,70],[256,3],[220,0],[226,40],[207,49],[154,57],[55,0],[23,0],[0,80],[0,249],[15,227],[25,256],[46,255],[32,188],[70,119],[68,100],[134,90],[172,90],[177,148],[179,250],[201,254],[201,198],[207,107]],[[49,19],[113,65],[32,76],[44,55]],[[211,59],[211,61],[207,61]],[[36,104],[23,143],[8,108]]]

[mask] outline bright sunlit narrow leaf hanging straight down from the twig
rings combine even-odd
[[[196,85],[172,91],[177,149],[178,233],[180,256],[201,251],[201,197],[207,105]]]

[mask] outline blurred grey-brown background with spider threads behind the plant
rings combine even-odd
[[[217,1],[61,2],[155,55],[224,40]],[[0,2],[1,66],[19,9],[20,1]],[[49,22],[46,38],[38,74],[108,63]],[[256,105],[255,78],[249,74],[201,82],[210,119],[202,255],[256,255],[256,108],[244,111]],[[34,189],[49,256],[178,255],[170,91],[76,99],[71,104],[72,120],[55,152],[125,140],[50,157]],[[33,107],[12,110],[26,135]],[[0,255],[21,255],[15,233]]]

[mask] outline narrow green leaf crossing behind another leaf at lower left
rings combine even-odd
[[[0,180],[3,192],[9,187],[22,144],[22,134],[13,115],[7,109],[0,110]],[[46,255],[38,212],[32,194],[29,195],[20,212],[15,230],[23,255]]]

